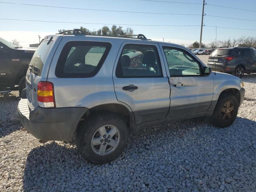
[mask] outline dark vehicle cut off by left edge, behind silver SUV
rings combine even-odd
[[[25,88],[28,64],[36,48],[22,48],[0,38],[0,93],[8,93],[18,85]]]

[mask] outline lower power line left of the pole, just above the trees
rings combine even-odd
[[[114,25],[115,23],[84,23],[84,22],[65,22],[65,21],[45,21],[45,20],[27,20],[27,19],[10,19],[0,18],[1,20],[14,20],[14,21],[31,21],[31,22],[48,22],[48,23],[72,23],[72,24],[99,24],[99,25]],[[175,26],[175,27],[198,27],[200,25],[148,25],[148,24],[116,24],[127,26]]]

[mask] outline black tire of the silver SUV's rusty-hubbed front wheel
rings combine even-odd
[[[225,113],[223,112],[223,108],[225,108],[225,104],[227,102],[230,102],[230,106],[234,107],[234,110],[230,112],[230,118],[229,116],[226,116],[224,119]],[[230,93],[222,93],[218,99],[218,102],[215,106],[214,112],[211,117],[211,122],[213,125],[224,128],[228,127],[233,124],[234,120],[236,119],[237,113],[238,113],[238,100],[233,94]]]

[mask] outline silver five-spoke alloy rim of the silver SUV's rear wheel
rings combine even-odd
[[[117,148],[119,141],[118,129],[113,125],[105,125],[93,134],[91,147],[96,154],[107,155]]]

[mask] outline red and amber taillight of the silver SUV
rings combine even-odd
[[[44,108],[54,108],[54,88],[52,82],[40,81],[37,86],[38,106]]]

